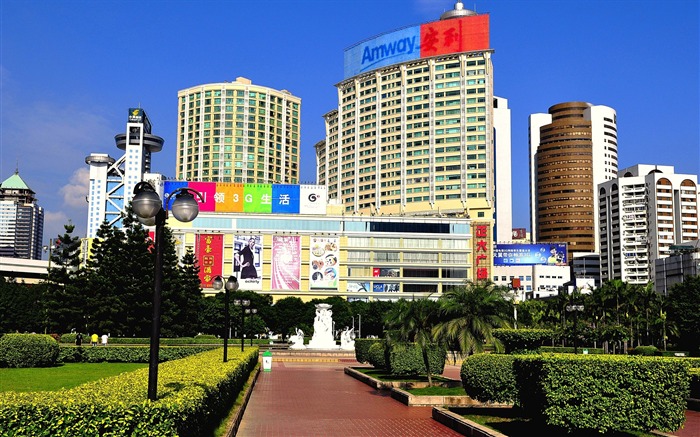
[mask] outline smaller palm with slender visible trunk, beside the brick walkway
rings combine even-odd
[[[433,300],[400,299],[384,319],[390,342],[415,343],[421,349],[429,386],[433,385],[433,379],[428,348],[433,343],[432,332],[437,324],[438,315],[439,306]]]

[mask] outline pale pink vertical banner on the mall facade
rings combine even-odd
[[[301,285],[301,237],[272,237],[272,289],[299,290]]]

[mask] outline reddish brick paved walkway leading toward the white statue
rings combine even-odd
[[[345,375],[355,363],[274,362],[261,372],[237,437],[461,436],[388,393]]]

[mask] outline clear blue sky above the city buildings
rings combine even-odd
[[[453,0],[0,0],[0,180],[20,175],[46,209],[44,240],[85,234],[90,153],[141,106],[175,175],[177,92],[235,80],[301,97],[301,180],[337,107],[343,50],[434,21]],[[513,226],[529,228],[528,116],[586,101],[617,111],[619,167],[700,172],[697,0],[477,0],[490,14],[494,93],[512,122]]]

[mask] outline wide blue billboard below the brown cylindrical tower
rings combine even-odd
[[[495,244],[494,266],[565,266],[566,243]]]

